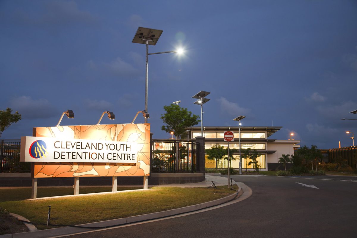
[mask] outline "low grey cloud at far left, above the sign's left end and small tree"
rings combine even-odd
[[[10,107],[14,111],[18,111],[22,115],[22,119],[50,118],[58,114],[48,100],[35,100],[30,96],[21,96],[10,100]]]

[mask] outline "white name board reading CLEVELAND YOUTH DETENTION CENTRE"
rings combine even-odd
[[[136,155],[132,142],[21,137],[21,162],[136,163]]]

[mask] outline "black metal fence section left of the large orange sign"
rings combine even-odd
[[[0,173],[30,172],[30,162],[20,163],[20,140],[0,140]]]

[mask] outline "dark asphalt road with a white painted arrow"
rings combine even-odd
[[[211,211],[70,237],[357,237],[357,177],[231,177],[252,196]]]

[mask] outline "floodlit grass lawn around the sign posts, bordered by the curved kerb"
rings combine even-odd
[[[0,207],[19,214],[31,222],[46,223],[48,205],[51,205],[51,223],[78,225],[166,211],[226,197],[234,190],[207,188],[154,187],[128,193],[99,194],[27,201],[31,189],[0,189]],[[68,191],[67,191],[68,189]],[[81,193],[104,192],[111,188],[81,188]],[[127,189],[127,188],[125,188]],[[130,189],[130,188],[129,188]],[[237,189],[237,187],[235,187]],[[118,189],[119,190],[119,189]],[[108,190],[106,190],[108,191]],[[110,190],[109,190],[110,191]],[[72,188],[38,188],[39,196],[73,194]],[[41,195],[40,195],[41,194]],[[45,195],[46,194],[46,195]],[[38,229],[47,229],[36,225]]]

